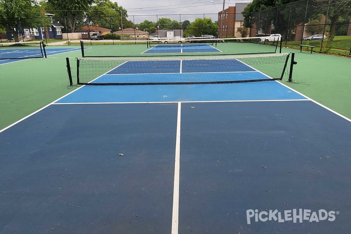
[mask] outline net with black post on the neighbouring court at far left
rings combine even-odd
[[[0,43],[0,59],[46,58],[42,41]]]

